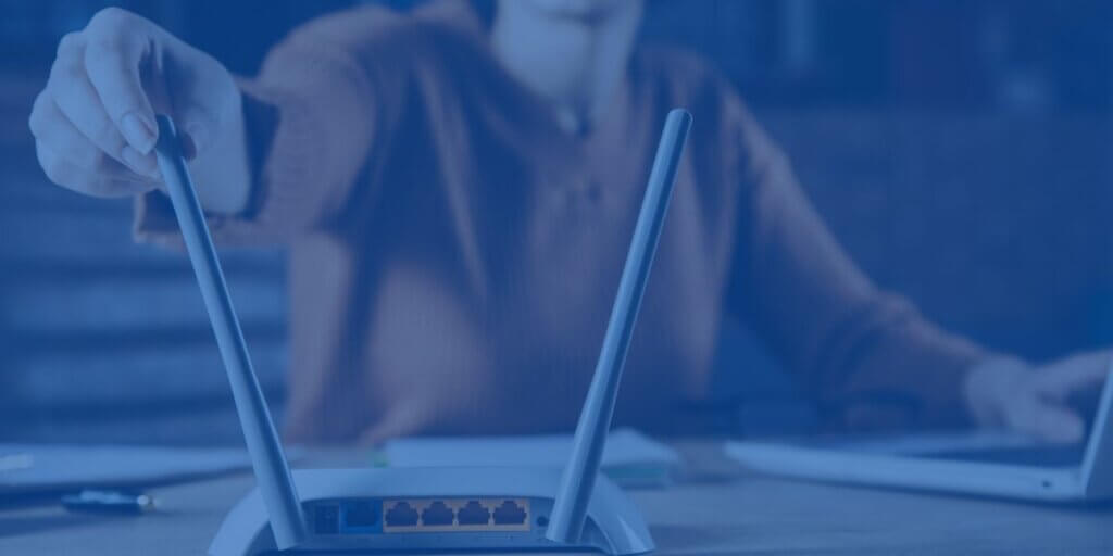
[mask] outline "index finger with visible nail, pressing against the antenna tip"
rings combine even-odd
[[[149,28],[138,16],[105,9],[86,29],[85,68],[108,118],[142,155],[158,139],[155,110],[142,88],[140,66],[152,56]]]

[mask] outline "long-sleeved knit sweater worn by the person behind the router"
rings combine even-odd
[[[223,245],[289,249],[286,435],[570,430],[670,108],[695,117],[615,423],[699,433],[726,319],[799,377],[829,424],[968,421],[986,357],[848,259],[786,156],[697,57],[640,47],[597,125],[567,131],[495,60],[463,2],[309,22],[240,80],[254,202]],[[161,193],[139,238],[177,241]]]

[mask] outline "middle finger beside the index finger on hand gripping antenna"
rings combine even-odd
[[[58,59],[50,71],[47,89],[58,108],[77,130],[117,161],[137,173],[150,176],[157,168],[154,155],[144,157],[129,148],[124,136],[108,118],[100,97],[85,71],[85,43],[80,34],[62,39]]]

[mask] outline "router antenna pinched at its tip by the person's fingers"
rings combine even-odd
[[[181,156],[174,122],[166,116],[158,116],[157,120],[158,143],[155,152],[158,166],[162,171],[174,212],[178,217],[181,237],[186,241],[186,250],[189,252],[194,274],[197,275],[197,284],[228,373],[239,425],[244,429],[247,451],[255,468],[255,480],[270,516],[270,530],[278,549],[293,548],[306,534],[302,503],[294,488],[289,465],[283,454],[278,434],[275,433],[258,378],[252,369],[244,332],[239,329],[239,319],[236,318],[236,310],[228,296],[224,271],[205,225],[205,215],[197,200],[189,169]]]

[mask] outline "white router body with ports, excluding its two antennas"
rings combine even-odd
[[[308,527],[295,549],[277,549],[266,505],[253,490],[225,518],[209,555],[653,549],[641,513],[605,477],[595,483],[579,540],[545,538],[560,476],[545,467],[297,469]]]

